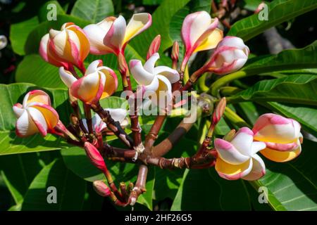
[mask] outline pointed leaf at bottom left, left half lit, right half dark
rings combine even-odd
[[[57,203],[49,204],[47,199],[56,188]],[[81,210],[86,192],[86,182],[70,172],[62,160],[56,160],[44,167],[35,177],[25,194],[22,210]]]

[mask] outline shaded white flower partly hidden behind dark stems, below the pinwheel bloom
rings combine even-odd
[[[105,108],[104,110],[107,110],[109,114],[111,115],[111,118],[114,121],[119,122],[121,127],[124,128],[128,126],[129,124],[129,120],[127,117],[128,110],[125,110],[123,108]],[[84,126],[86,127],[86,129],[88,129],[87,120],[82,119],[82,122]],[[99,132],[108,131],[107,124],[101,120],[101,117],[99,117],[98,114],[95,114],[92,117],[92,127],[94,127],[95,131],[99,131]]]

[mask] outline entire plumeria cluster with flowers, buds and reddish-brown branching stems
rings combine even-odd
[[[300,124],[275,114],[261,115],[252,129],[242,127],[237,132],[232,130],[223,139],[213,141],[213,131],[223,117],[226,100],[218,99],[216,107],[213,107],[215,98],[208,94],[198,97],[192,94],[191,98],[197,98],[198,108],[194,110],[195,113],[200,112],[199,116],[212,115],[208,134],[197,153],[191,157],[163,158],[196,121],[185,124],[184,119],[167,139],[154,146],[168,112],[177,105],[175,92],[192,91],[193,84],[205,72],[227,75],[240,70],[247,62],[249,48],[239,37],[223,37],[223,31],[218,28],[218,19],[200,11],[187,15],[182,24],[181,37],[185,47],[182,62],[178,62],[180,43],[175,41],[170,54],[171,67],[157,65],[160,59],[160,35],[151,42],[145,63],[139,59],[127,62],[125,47],[133,37],[150,26],[151,15],[138,13],[132,15],[128,24],[119,15],[118,18],[111,16],[83,29],[74,23],[65,23],[61,30],[49,30],[39,44],[39,54],[46,62],[58,67],[61,80],[68,89],[73,108],[70,124],[65,126],[59,120],[49,94],[34,90],[25,95],[22,104],[13,105],[13,111],[18,117],[16,134],[25,137],[37,133],[46,136],[50,133],[85,149],[89,160],[104,173],[107,181],[107,184],[104,181],[94,181],[94,189],[99,195],[111,198],[113,203],[121,206],[134,205],[138,196],[146,191],[149,165],[162,169],[203,169],[215,166],[224,179],[256,180],[266,172],[260,154],[275,162],[287,162],[299,155],[302,143]],[[212,53],[204,65],[184,82],[183,75],[189,58],[199,51]],[[102,99],[116,93],[119,75],[115,72],[116,68],[108,68],[107,62],[102,60],[85,62],[89,53],[98,56],[116,55],[123,91],[128,91],[125,98],[132,100],[129,111],[125,107],[101,107]],[[132,78],[137,82],[136,89],[132,88]],[[139,124],[138,98],[163,112],[163,115],[156,116],[144,140]],[[82,101],[82,108],[79,101]],[[85,117],[82,117],[83,114]],[[131,135],[127,134],[126,128],[132,131]],[[108,135],[116,135],[125,148],[111,146],[107,141]],[[136,183],[126,186],[123,182],[117,188],[106,167],[105,158],[138,163],[140,166]]]

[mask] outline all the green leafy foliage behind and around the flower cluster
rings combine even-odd
[[[58,8],[56,21],[46,19],[46,6],[51,3]],[[213,168],[151,168],[147,193],[139,198],[135,210],[317,210],[317,1],[266,1],[269,15],[263,21],[253,13],[259,3],[238,1],[239,12],[232,19],[232,27],[223,27],[225,34],[247,41],[252,53],[247,65],[226,77],[208,75],[209,79],[199,83],[197,89],[228,96],[230,108],[248,124],[272,111],[298,120],[305,138],[302,154],[284,164],[266,160],[266,176],[253,182],[226,181]],[[9,42],[0,51],[0,210],[123,210],[94,193],[91,182],[103,176],[90,165],[82,149],[50,135],[45,139],[38,135],[27,139],[15,136],[11,107],[31,89],[47,91],[63,122],[68,122],[71,108],[66,86],[59,79],[58,68],[44,62],[38,54],[39,40],[50,28],[59,29],[66,22],[84,27],[108,15],[120,13],[130,18],[133,13],[147,11],[153,15],[153,24],[130,42],[126,56],[128,60],[144,60],[151,40],[161,34],[160,63],[170,65],[166,55],[173,41],[180,40],[182,20],[188,13],[201,10],[215,13],[209,0],[1,0],[0,34],[6,35]],[[272,54],[266,38],[271,27],[292,43],[291,49]],[[86,63],[97,58],[118,70],[113,55],[89,56]],[[206,53],[199,53],[192,68],[204,60]],[[222,87],[218,93],[218,87],[227,83],[230,86]],[[116,108],[122,101],[113,96],[102,105]],[[144,134],[152,122],[151,117],[143,119]],[[180,118],[168,118],[158,141],[168,136],[178,122]],[[217,125],[216,134],[224,135],[238,125],[225,117]],[[192,155],[205,126],[202,118],[167,156]],[[114,137],[112,142],[120,145]],[[108,163],[116,180],[135,181],[134,165]],[[48,186],[58,189],[58,204],[46,203]],[[260,186],[268,188],[268,204],[259,204]]]

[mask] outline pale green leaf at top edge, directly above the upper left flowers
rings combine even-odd
[[[77,0],[70,15],[99,23],[109,15],[113,15],[113,4],[111,0]]]

